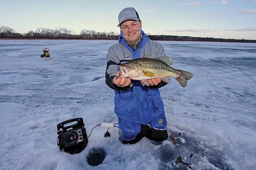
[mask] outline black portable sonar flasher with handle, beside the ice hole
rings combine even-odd
[[[68,123],[76,122],[68,125]],[[78,154],[88,144],[83,118],[74,118],[57,124],[57,144],[60,151],[64,150],[69,154]]]

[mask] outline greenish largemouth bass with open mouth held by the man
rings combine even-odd
[[[121,74],[118,78],[131,78],[140,80],[142,85],[149,86],[148,79],[159,78],[162,81],[169,83],[170,76],[174,77],[182,87],[187,85],[189,79],[193,77],[191,72],[176,70],[170,65],[173,61],[168,56],[155,58],[151,54],[145,54],[143,58],[133,59],[118,66]]]

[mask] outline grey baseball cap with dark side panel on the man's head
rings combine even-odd
[[[139,19],[140,19],[139,14],[134,8],[132,7],[124,8],[118,15],[119,24],[117,25],[117,27],[120,27],[121,23],[123,23],[124,21],[127,21],[127,20],[138,21]]]

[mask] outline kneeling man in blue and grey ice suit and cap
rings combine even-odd
[[[150,86],[142,86],[139,80],[117,79],[117,66],[144,54],[165,56],[160,43],[152,41],[142,31],[142,21],[134,8],[124,8],[118,15],[121,33],[118,43],[108,50],[106,84],[115,92],[114,111],[118,117],[120,141],[134,144],[144,136],[154,141],[168,138],[160,87],[167,83],[155,78],[148,80]]]

